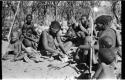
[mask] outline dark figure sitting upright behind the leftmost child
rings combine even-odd
[[[28,14],[26,16],[26,22],[22,28],[22,35],[24,37],[23,44],[25,47],[32,47],[36,49],[37,47],[37,32],[35,31],[34,24],[32,22],[32,15]]]

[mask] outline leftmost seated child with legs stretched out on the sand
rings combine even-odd
[[[32,51],[33,52],[33,51]],[[34,56],[32,56],[34,55]],[[22,42],[19,40],[19,33],[14,31],[11,35],[11,41],[8,47],[8,50],[6,54],[3,56],[4,60],[12,60],[12,61],[18,61],[18,60],[24,60],[26,56],[30,56],[30,58],[37,58],[37,54],[30,53],[29,49],[26,48]],[[35,61],[35,60],[34,60]],[[38,61],[38,60],[37,60]]]

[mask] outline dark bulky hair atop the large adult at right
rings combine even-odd
[[[101,15],[96,18],[95,24],[100,23],[103,25],[108,25],[112,21],[112,17],[110,15]]]

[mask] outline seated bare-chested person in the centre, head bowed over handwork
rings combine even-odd
[[[71,46],[72,43],[62,43],[59,35],[60,29],[61,26],[59,22],[53,21],[51,22],[50,28],[42,32],[39,40],[40,43],[38,44],[38,50],[41,51],[42,55],[45,54],[49,57],[59,55],[63,58],[64,54],[67,54],[69,46]]]

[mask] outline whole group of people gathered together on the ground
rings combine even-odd
[[[60,34],[61,24],[52,21],[49,29],[38,36],[32,15],[28,14],[21,34],[18,31],[12,32],[3,60],[39,62],[42,61],[41,56],[47,56],[51,60],[67,62],[71,59],[77,64],[89,65],[90,52],[93,50],[92,65],[98,66],[93,78],[116,78],[113,71],[117,68],[117,57],[122,54],[120,35],[112,28],[115,27],[112,25],[113,18],[101,15],[93,21],[91,16],[82,15],[79,20],[68,23],[69,29],[64,35]]]

